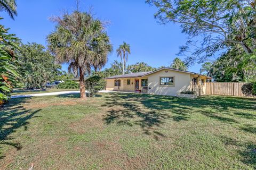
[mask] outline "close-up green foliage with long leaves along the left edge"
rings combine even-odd
[[[2,18],[1,18],[2,19]],[[13,34],[8,34],[8,29],[0,25],[0,103],[7,101],[11,89],[17,82],[17,52],[19,39]]]

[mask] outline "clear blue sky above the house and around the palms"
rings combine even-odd
[[[49,17],[60,15],[61,11],[73,11],[74,0],[17,0],[18,16],[13,21],[2,12],[2,23],[11,28],[23,43],[35,42],[46,45],[46,36],[54,30],[54,23]],[[187,36],[181,33],[178,24],[162,25],[154,19],[156,8],[145,3],[145,0],[81,0],[83,11],[92,11],[96,18],[109,21],[107,32],[114,51],[108,56],[106,67],[114,60],[120,60],[115,50],[125,41],[131,45],[128,64],[146,62],[151,66],[169,66],[177,57],[179,46],[186,43]],[[184,57],[179,56],[182,60]],[[199,72],[201,64],[189,67],[189,71]],[[66,70],[67,65],[62,65]]]

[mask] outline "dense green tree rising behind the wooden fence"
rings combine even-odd
[[[202,71],[218,82],[256,81],[256,65],[252,62],[255,55],[248,55],[237,48],[231,48],[216,61],[206,62]]]

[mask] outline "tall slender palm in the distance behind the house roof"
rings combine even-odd
[[[124,75],[124,69],[126,62],[128,60],[128,54],[131,54],[130,45],[127,43],[123,43],[119,45],[119,48],[116,50],[117,56],[121,57],[121,61],[123,61],[123,75]]]

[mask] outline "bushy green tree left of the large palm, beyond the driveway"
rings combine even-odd
[[[22,44],[18,58],[21,81],[27,89],[42,89],[60,74],[61,66],[54,63],[54,56],[41,44]]]

